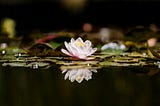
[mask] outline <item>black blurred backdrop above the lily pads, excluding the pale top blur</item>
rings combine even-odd
[[[83,10],[72,12],[61,0],[1,0],[0,19],[13,18],[20,32],[81,28],[85,22],[95,26],[160,24],[160,1],[157,0],[88,0]]]

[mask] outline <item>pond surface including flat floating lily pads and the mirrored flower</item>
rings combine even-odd
[[[155,106],[160,62],[138,53],[97,53],[92,60],[0,55],[1,106]]]

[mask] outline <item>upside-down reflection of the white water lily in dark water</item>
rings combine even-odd
[[[62,70],[62,74],[65,73],[65,80],[68,78],[71,82],[77,81],[78,83],[81,83],[84,79],[86,81],[92,79],[92,72],[97,73],[97,70],[93,68],[69,68]]]

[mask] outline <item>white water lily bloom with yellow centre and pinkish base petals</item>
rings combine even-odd
[[[73,38],[69,43],[66,41],[64,42],[66,49],[61,49],[61,51],[71,57],[89,60],[88,56],[91,56],[94,52],[96,52],[97,48],[91,47],[91,42],[83,40],[79,37],[78,39],[74,40]]]

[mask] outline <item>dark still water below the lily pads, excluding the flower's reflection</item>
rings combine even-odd
[[[157,106],[157,67],[104,67],[81,83],[64,80],[58,66],[0,67],[1,106]]]

